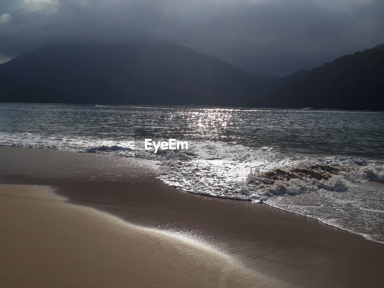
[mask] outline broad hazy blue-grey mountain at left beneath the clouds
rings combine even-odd
[[[43,87],[0,96],[15,102],[249,106],[266,89],[264,78],[173,43],[50,43],[0,73]]]

